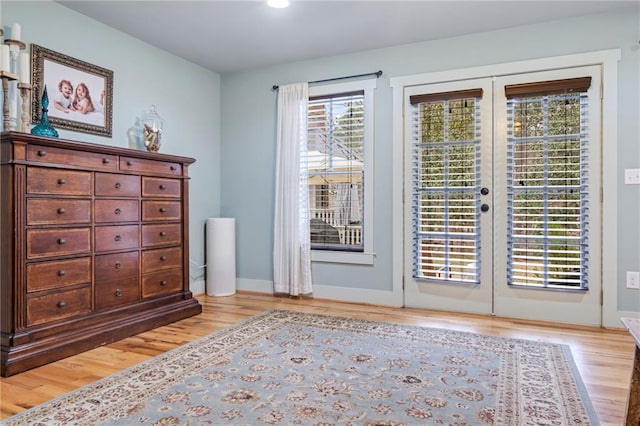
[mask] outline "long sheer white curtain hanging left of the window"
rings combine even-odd
[[[307,83],[280,86],[276,152],[273,282],[276,293],[311,294],[307,150]]]

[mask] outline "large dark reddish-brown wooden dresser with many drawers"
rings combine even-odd
[[[2,376],[202,311],[189,291],[194,161],[2,133]]]

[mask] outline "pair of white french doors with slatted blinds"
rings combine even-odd
[[[405,88],[405,305],[599,325],[600,67]]]

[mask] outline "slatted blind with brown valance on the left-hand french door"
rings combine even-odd
[[[415,95],[413,276],[480,282],[481,89]]]

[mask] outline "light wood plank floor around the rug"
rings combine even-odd
[[[7,418],[265,309],[280,308],[567,344],[601,423],[623,424],[634,343],[622,329],[567,327],[491,316],[253,293],[219,298],[198,296],[198,300],[204,308],[202,315],[0,379],[0,418]]]

